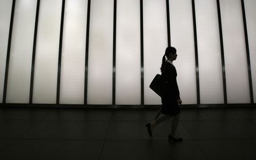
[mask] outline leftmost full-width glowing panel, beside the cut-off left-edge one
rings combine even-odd
[[[29,102],[36,2],[34,0],[19,0],[15,3],[6,93],[7,103]]]

